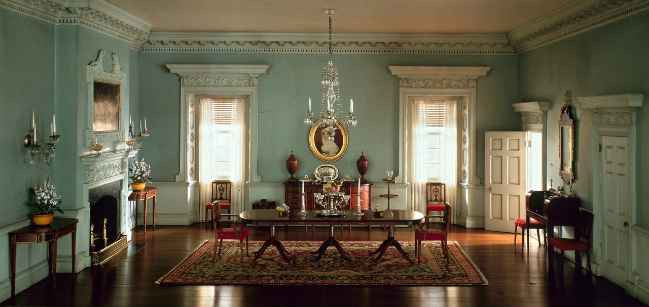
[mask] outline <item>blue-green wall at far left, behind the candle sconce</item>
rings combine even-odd
[[[31,130],[32,109],[38,141],[50,132],[54,38],[51,25],[0,10],[0,227],[29,218],[29,188],[32,183],[42,185],[51,172],[47,166],[38,170],[29,165],[31,156],[23,146],[23,138]]]

